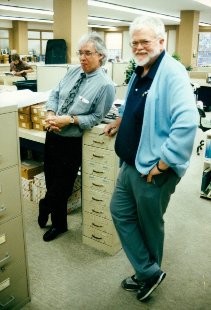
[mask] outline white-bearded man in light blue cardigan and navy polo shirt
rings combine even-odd
[[[115,151],[122,166],[110,211],[136,272],[122,286],[144,300],[166,275],[163,215],[189,166],[199,117],[185,67],[164,50],[161,20],[138,17],[129,33],[137,67],[119,118],[104,132],[118,130]]]

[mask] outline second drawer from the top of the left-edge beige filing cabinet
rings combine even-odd
[[[19,167],[0,171],[0,224],[21,213]]]

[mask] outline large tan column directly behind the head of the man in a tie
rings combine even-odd
[[[80,37],[88,33],[87,0],[54,0],[53,38],[67,44],[67,63],[79,63],[76,56]]]

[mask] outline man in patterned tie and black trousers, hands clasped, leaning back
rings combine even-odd
[[[46,103],[47,125],[44,172],[47,193],[39,201],[38,224],[44,228],[51,214],[52,226],[44,241],[67,231],[67,200],[82,161],[82,135],[99,124],[109,112],[115,87],[102,65],[107,60],[106,45],[92,32],[82,36],[73,66],[51,92]]]

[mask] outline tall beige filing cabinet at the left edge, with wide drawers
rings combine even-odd
[[[0,310],[18,310],[30,300],[17,106],[0,106]]]

